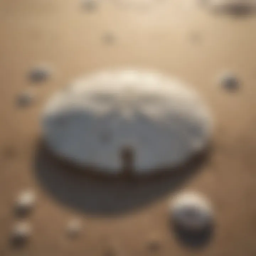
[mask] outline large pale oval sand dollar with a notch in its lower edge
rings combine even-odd
[[[74,81],[50,98],[42,125],[53,153],[116,173],[127,148],[138,172],[182,164],[207,145],[212,129],[194,91],[163,75],[129,70]]]

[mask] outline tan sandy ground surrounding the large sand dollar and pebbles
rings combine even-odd
[[[152,2],[138,9],[102,0],[87,11],[79,0],[0,0],[1,256],[111,255],[109,248],[127,256],[256,255],[256,16],[215,15],[192,0]],[[34,84],[28,72],[41,63],[52,75]],[[202,94],[215,130],[209,159],[195,172],[131,184],[59,170],[41,152],[48,96],[80,75],[120,66],[158,70]],[[216,83],[223,70],[238,77],[238,91]],[[35,102],[18,107],[26,90]],[[25,218],[33,233],[16,248],[14,201],[27,188],[37,195]],[[197,249],[177,240],[168,222],[168,199],[183,188],[204,193],[215,209],[213,236]],[[73,217],[83,223],[76,240],[65,233]]]

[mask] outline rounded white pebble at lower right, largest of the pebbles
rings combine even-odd
[[[170,211],[174,223],[186,231],[203,230],[212,224],[210,203],[194,192],[183,192],[171,199]]]

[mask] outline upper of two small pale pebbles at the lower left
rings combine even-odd
[[[35,204],[35,194],[32,191],[23,191],[16,201],[16,212],[18,215],[28,214]]]

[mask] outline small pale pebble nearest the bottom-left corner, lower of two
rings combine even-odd
[[[31,236],[31,226],[28,222],[18,222],[14,225],[11,233],[11,239],[14,244],[26,242]]]

